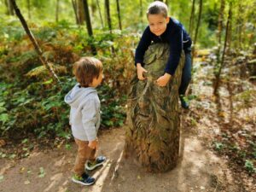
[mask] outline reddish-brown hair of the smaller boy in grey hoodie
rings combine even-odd
[[[88,87],[102,72],[102,62],[94,57],[82,57],[73,65],[73,74],[82,87]]]

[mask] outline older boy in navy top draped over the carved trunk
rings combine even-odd
[[[137,66],[137,77],[144,80],[143,57],[148,46],[153,43],[167,43],[170,45],[170,56],[166,63],[166,70],[156,83],[159,86],[166,86],[177,68],[182,50],[185,52],[185,63],[183,67],[182,82],[179,87],[180,101],[183,108],[189,108],[184,95],[191,79],[191,38],[185,31],[183,25],[167,16],[168,8],[165,3],[155,1],[150,3],[147,11],[148,27],[137,45],[135,64]]]

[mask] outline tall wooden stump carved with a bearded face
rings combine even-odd
[[[126,155],[136,153],[149,172],[166,172],[177,165],[180,136],[178,87],[184,54],[166,87],[154,84],[165,70],[168,44],[149,46],[144,56],[147,80],[131,80],[125,138]]]

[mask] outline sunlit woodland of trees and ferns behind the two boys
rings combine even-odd
[[[26,158],[37,143],[64,142],[69,148],[69,108],[63,97],[75,84],[72,66],[80,56],[95,55],[104,65],[105,79],[98,89],[102,129],[123,126],[133,55],[152,1],[17,0],[39,54],[11,2],[0,1],[0,158]],[[194,43],[195,78],[185,125],[195,127],[204,115],[213,117],[212,105],[219,107],[214,107],[214,115],[221,131],[212,135],[209,147],[255,179],[256,1],[164,2]],[[204,83],[199,84],[201,76]],[[210,94],[202,97],[199,89]],[[207,105],[207,111],[201,105]],[[19,148],[11,150],[14,146]]]

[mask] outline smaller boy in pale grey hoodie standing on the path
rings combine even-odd
[[[70,125],[78,154],[73,167],[73,182],[83,185],[95,183],[95,178],[84,172],[101,166],[106,157],[96,158],[98,140],[96,137],[100,126],[100,100],[96,86],[102,83],[102,62],[93,57],[83,57],[73,66],[73,73],[79,82],[65,96],[70,105]]]

